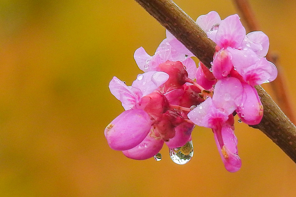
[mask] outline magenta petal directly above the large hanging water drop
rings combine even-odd
[[[165,142],[165,144],[171,149],[184,146],[189,141],[193,128],[194,125],[189,122],[178,125],[175,127],[175,136],[169,139],[168,142]]]

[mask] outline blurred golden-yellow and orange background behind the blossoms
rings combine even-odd
[[[212,10],[222,19],[237,13],[230,0],[175,2],[194,20]],[[296,1],[251,4],[295,104]],[[165,29],[133,0],[2,0],[0,195],[295,196],[295,163],[243,123],[235,123],[236,173],[225,170],[205,128],[193,131],[194,156],[183,166],[170,161],[166,146],[160,162],[109,148],[104,128],[123,111],[109,81],[131,85],[140,73],[134,51],[143,46],[152,55],[164,38]]]

